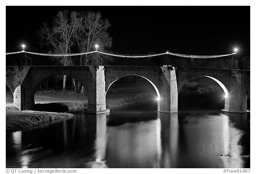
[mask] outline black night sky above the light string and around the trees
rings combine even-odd
[[[111,50],[120,54],[250,54],[249,6],[7,6],[6,52],[40,51],[36,30],[58,11],[100,12],[112,27]]]

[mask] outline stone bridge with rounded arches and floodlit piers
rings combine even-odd
[[[88,112],[106,110],[109,87],[121,77],[136,75],[147,79],[160,100],[159,112],[177,112],[178,93],[184,84],[196,77],[216,81],[226,94],[224,111],[247,112],[250,71],[171,66],[6,66],[6,85],[13,94],[13,104],[20,110],[32,110],[34,95],[41,81],[55,75],[75,78],[88,90]]]

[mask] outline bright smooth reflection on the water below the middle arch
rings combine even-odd
[[[108,166],[160,167],[160,131],[160,119],[108,127]]]

